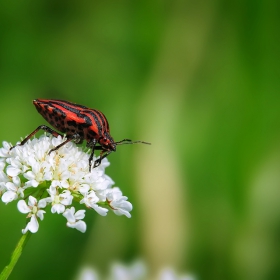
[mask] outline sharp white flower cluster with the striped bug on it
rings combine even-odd
[[[43,220],[48,205],[52,213],[67,219],[68,227],[85,232],[85,210],[76,211],[73,201],[102,216],[107,214],[107,206],[130,218],[131,203],[119,188],[112,187],[113,180],[105,174],[108,160],[103,159],[89,172],[89,154],[72,142],[48,154],[63,140],[43,135],[13,149],[3,142],[0,148],[0,197],[6,204],[19,200],[18,210],[28,214],[30,221],[22,233],[38,231],[38,218]]]

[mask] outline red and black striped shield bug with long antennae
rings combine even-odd
[[[94,161],[93,168],[99,166],[102,159],[107,157],[111,152],[115,152],[117,145],[134,143],[151,144],[144,141],[132,141],[130,139],[123,139],[115,142],[110,135],[109,123],[105,115],[99,110],[56,99],[35,99],[33,100],[33,104],[50,125],[66,134],[66,140],[51,149],[49,154],[72,140],[76,144],[81,144],[85,140],[87,142],[86,146],[91,149],[89,172],[91,171],[95,150],[100,150],[101,152],[99,158]],[[41,129],[52,134],[54,137],[62,136],[52,128],[46,125],[40,125],[23,139],[19,145],[24,145]]]

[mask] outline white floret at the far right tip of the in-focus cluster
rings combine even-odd
[[[119,188],[115,187],[113,189],[107,190],[107,201],[110,207],[113,209],[117,215],[125,215],[128,218],[131,217],[129,213],[132,210],[132,204],[127,201],[127,197],[122,195]]]

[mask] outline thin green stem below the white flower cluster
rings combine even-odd
[[[10,276],[11,272],[13,271],[19,257],[21,256],[22,250],[26,245],[29,237],[31,236],[31,232],[28,231],[26,234],[23,234],[20,238],[13,254],[11,257],[10,263],[3,269],[2,273],[0,274],[0,280],[6,280]]]

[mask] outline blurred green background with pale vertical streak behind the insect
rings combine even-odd
[[[0,140],[46,122],[34,98],[103,111],[121,146],[107,173],[132,218],[46,214],[10,279],[90,265],[197,279],[280,279],[279,1],[1,1]],[[0,266],[21,236],[0,204]]]

